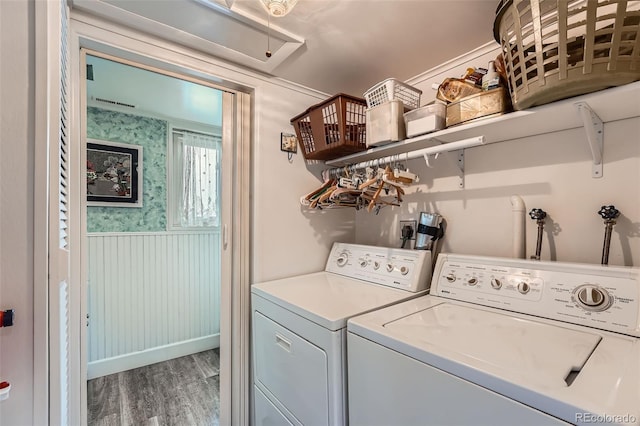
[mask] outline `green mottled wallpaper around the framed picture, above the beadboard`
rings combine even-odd
[[[89,206],[87,232],[166,231],[167,122],[89,107],[87,137],[143,147],[142,208]]]

